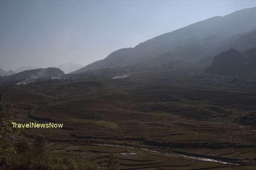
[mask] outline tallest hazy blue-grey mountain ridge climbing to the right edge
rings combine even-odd
[[[174,59],[200,60],[209,56],[230,37],[256,29],[256,7],[235,11],[225,16],[200,21],[173,32],[165,33],[138,44],[119,49],[105,59],[89,64],[72,73],[136,64],[172,53]]]

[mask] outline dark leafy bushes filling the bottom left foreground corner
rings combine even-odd
[[[93,162],[53,157],[47,152],[46,144],[44,136],[35,136],[33,142],[22,138],[13,152],[1,154],[1,170],[98,170]]]

